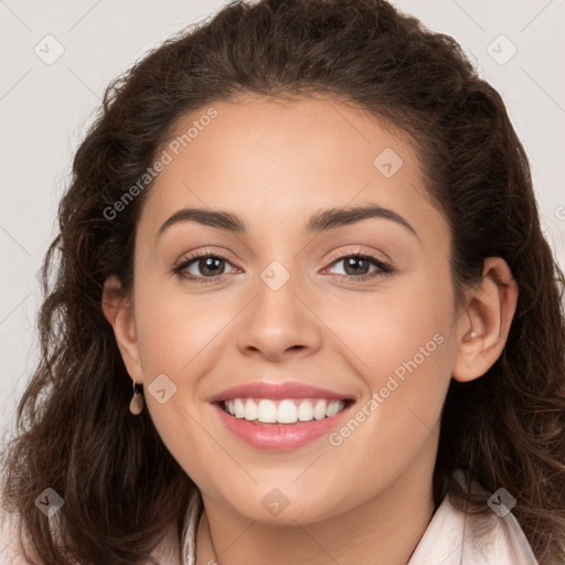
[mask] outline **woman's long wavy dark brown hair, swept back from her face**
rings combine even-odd
[[[128,412],[131,380],[100,308],[110,275],[131,288],[150,184],[117,217],[108,209],[180,118],[246,92],[335,96],[403,129],[450,226],[455,287],[477,282],[486,257],[510,265],[520,296],[508,342],[482,377],[450,384],[434,499],[450,491],[463,503],[457,468],[488,493],[507,489],[537,559],[562,564],[565,280],[540,228],[529,161],[501,96],[460,46],[384,0],[231,2],[108,86],[45,256],[42,359],[6,455],[3,504],[21,514],[31,547],[49,564],[141,564],[167,525],[181,532],[195,487],[148,411]],[[60,545],[34,504],[45,488],[65,502]]]

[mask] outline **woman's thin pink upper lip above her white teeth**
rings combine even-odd
[[[210,398],[211,403],[228,401],[231,398],[330,398],[335,401],[350,399],[351,396],[335,393],[318,386],[310,386],[298,382],[266,383],[255,382],[234,386],[215,394]]]

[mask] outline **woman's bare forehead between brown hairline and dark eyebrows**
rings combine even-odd
[[[249,225],[369,202],[423,228],[441,220],[406,136],[332,98],[216,102],[180,120],[161,150],[169,162],[138,226],[152,234],[189,205],[236,211]]]

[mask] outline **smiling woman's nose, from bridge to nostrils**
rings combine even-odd
[[[258,277],[255,297],[237,331],[237,347],[245,355],[280,362],[311,355],[320,348],[323,323],[316,316],[315,299],[299,276],[289,273],[287,279],[285,270],[275,265]]]

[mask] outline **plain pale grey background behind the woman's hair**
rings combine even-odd
[[[452,35],[502,94],[531,160],[546,237],[565,267],[564,0],[394,3]],[[36,273],[55,235],[72,156],[104,88],[149,49],[222,4],[0,0],[2,433],[12,428],[17,399],[38,359]],[[53,61],[57,50],[64,52]]]

